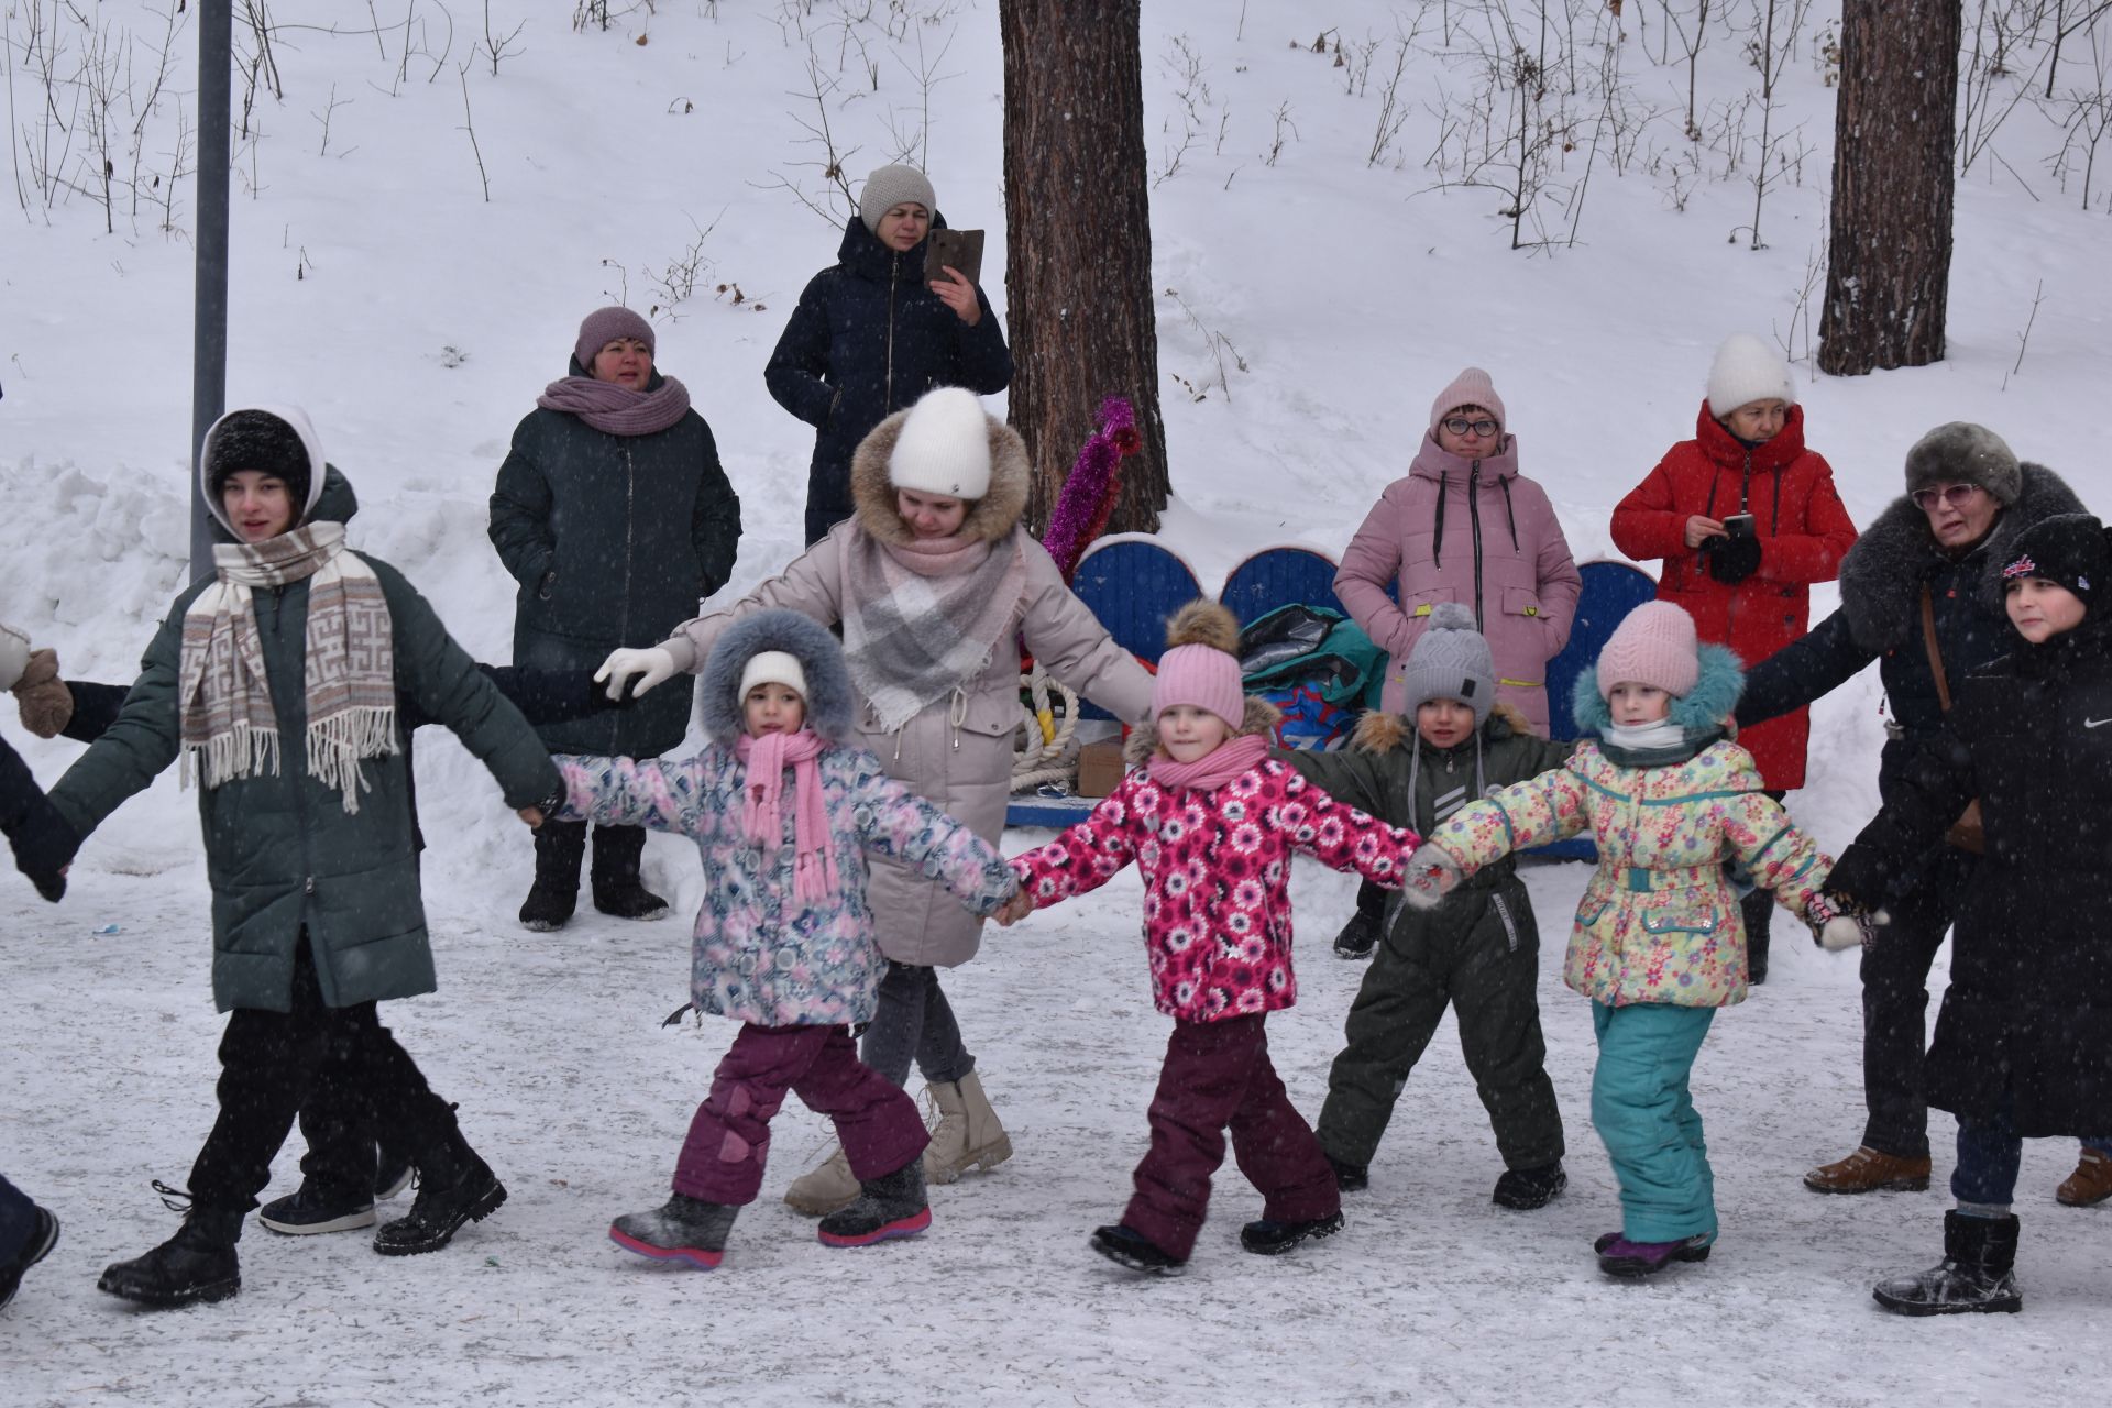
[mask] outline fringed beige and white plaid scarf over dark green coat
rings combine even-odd
[[[184,783],[207,787],[279,770],[264,642],[251,593],[308,583],[302,690],[308,777],[359,811],[359,760],[397,751],[395,633],[380,578],[344,551],[344,524],[308,524],[264,543],[213,547],[220,572],[184,612]]]

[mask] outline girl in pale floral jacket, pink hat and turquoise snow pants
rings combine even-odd
[[[1738,659],[1698,646],[1694,619],[1645,602],[1578,678],[1573,711],[1599,739],[1552,773],[1504,787],[1440,823],[1402,891],[1432,903],[1521,846],[1590,827],[1599,870],[1578,903],[1563,979],[1592,1001],[1592,1123],[1620,1180],[1622,1231],[1599,1269],[1639,1277],[1706,1260],[1715,1178],[1687,1072],[1719,1007],[1745,1001],[1745,933],[1723,876],[1736,859],[1812,922],[1829,861],[1761,792],[1753,758],[1723,737]]]

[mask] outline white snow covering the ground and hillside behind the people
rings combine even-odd
[[[148,13],[118,0],[89,8],[110,23]],[[659,4],[606,34],[574,34],[547,0],[490,8],[494,34],[524,25],[503,44],[498,76],[488,59],[456,74],[475,23],[467,8],[441,59],[444,11],[418,6],[422,38],[403,80],[399,30],[386,55],[357,32],[279,34],[285,99],[260,97],[262,137],[237,163],[228,391],[234,403],[306,405],[359,490],[355,545],[403,568],[465,646],[498,661],[511,585],[484,540],[484,498],[511,426],[564,369],[579,317],[623,291],[655,302],[653,274],[705,228],[708,266],[659,319],[659,361],[689,382],[743,496],[748,532],[722,600],[798,549],[811,435],[769,401],[760,367],[836,247],[836,228],[781,186],[822,190],[803,165],[817,158],[800,127],[815,116],[800,97],[803,34],[845,84],[830,122],[857,148],[853,179],[900,154],[895,133],[923,131],[919,40],[936,55],[950,38],[929,89],[929,165],[948,220],[991,228],[999,310],[1003,241],[1031,232],[999,228],[991,0],[902,4],[868,21],[847,19],[862,6],[841,0]],[[1626,23],[1643,23],[1637,8]],[[1271,543],[1339,551],[1402,473],[1428,397],[1466,363],[1495,374],[1525,471],[1548,488],[1578,557],[1609,555],[1611,505],[1692,435],[1709,355],[1736,329],[1791,344],[1810,441],[1859,524],[1899,492],[1905,448],[1951,418],[1996,426],[2106,507],[2104,215],[2047,188],[2034,163],[2059,135],[2032,108],[1996,139],[2009,169],[1983,160],[1958,190],[1949,357],[1854,380],[1812,372],[1799,291],[1825,245],[1831,91],[1808,49],[1835,13],[1814,6],[1776,89],[1776,137],[1812,158],[1770,177],[1768,247],[1730,243],[1751,220],[1751,184],[1745,169],[1726,179],[1723,154],[1704,150],[1706,171],[1677,201],[1668,167],[1637,160],[1616,175],[1601,154],[1578,245],[1510,251],[1500,192],[1430,190],[1434,175],[1417,165],[1436,144],[1438,91],[1464,93],[1468,65],[1419,53],[1417,112],[1394,144],[1409,156],[1366,165],[1379,97],[1345,93],[1341,70],[1309,53],[1320,27],[1309,6],[1147,6],[1153,177],[1183,129],[1176,36],[1208,82],[1204,135],[1151,190],[1176,494],[1164,536],[1204,587]],[[1360,0],[1326,19],[1352,44],[1381,42],[1383,78],[1396,15]],[[19,6],[6,23],[13,40]],[[144,27],[158,34],[158,21]],[[186,114],[192,42],[186,23],[171,82]],[[1624,76],[1639,103],[1671,114],[1645,146],[1677,163],[1685,65],[1658,68],[1643,49],[1630,38]],[[1753,80],[1736,49],[1736,36],[1711,32],[1702,51],[1702,97],[1717,110]],[[25,127],[38,80],[19,51],[11,63]],[[490,203],[460,131],[465,89]],[[1286,101],[1297,131],[1269,165]],[[146,163],[167,169],[173,99],[146,122]],[[186,228],[190,198],[186,179],[175,194]],[[80,194],[49,211],[34,194],[27,205],[19,224],[0,222],[0,616],[59,646],[70,676],[125,680],[186,572],[192,251],[156,228],[158,211],[129,222],[120,207],[112,236]],[[718,283],[737,283],[743,302],[714,298]],[[1219,380],[1219,336],[1246,372],[1227,355]],[[1206,397],[1191,401],[1172,374]],[[1831,608],[1829,589],[1816,597]],[[1816,709],[1814,781],[1791,806],[1831,846],[1875,806],[1878,699],[1869,671]],[[78,754],[6,730],[46,783]],[[11,998],[0,1169],[65,1222],[0,1321],[0,1402],[602,1404],[684,1389],[788,1404],[1878,1404],[1939,1391],[2030,1402],[2089,1391],[2112,1368],[2106,1214],[2051,1199],[2072,1165],[2068,1142],[2025,1150],[2023,1315],[1924,1324],[1869,1305],[1875,1275],[1939,1256],[1951,1125],[1935,1119],[1939,1178],[1926,1195],[1802,1188],[1802,1169],[1848,1153],[1863,1119],[1861,998],[1852,960],[1808,946],[1787,916],[1774,977],[1721,1013],[1696,1066],[1723,1214],[1715,1256],[1643,1286],[1603,1281],[1588,1243],[1618,1224],[1618,1205],[1588,1127],[1590,1017],[1561,988],[1557,958],[1586,878],[1576,865],[1529,874],[1548,1068],[1571,1144],[1569,1191],[1544,1212],[1489,1205],[1500,1163],[1447,1022],[1402,1096],[1373,1188],[1347,1199],[1341,1237],[1278,1260],[1242,1254],[1238,1222],[1259,1214],[1259,1197],[1227,1165],[1185,1279],[1140,1283],[1092,1256],[1086,1235],[1119,1214],[1145,1148],[1166,1036],[1132,874],[993,933],[982,958],[948,975],[1018,1155],[938,1191],[927,1237],[870,1252],[815,1243],[777,1197],[826,1134],[788,1104],[765,1195],[724,1267],[642,1264],[604,1229],[663,1197],[689,1112],[733,1036],[729,1024],[659,1028],[682,1001],[686,922],[587,914],[555,935],[520,931],[528,840],[496,787],[431,730],[418,766],[441,990],[386,1020],[463,1104],[511,1201],[446,1252],[389,1262],[359,1235],[296,1241],[251,1222],[245,1290],[220,1307],[133,1313],[95,1292],[101,1264],[173,1226],[146,1184],[184,1182],[213,1110],[222,1024],[207,986],[207,893],[192,802],[171,770],[89,842],[63,906],[15,882],[17,903],[0,914]],[[648,846],[648,878],[678,914],[697,903],[695,865],[682,842]],[[1352,889],[1318,870],[1293,889],[1303,992],[1271,1041],[1309,1115],[1362,977],[1326,950]],[[93,933],[103,925],[120,933]],[[296,1178],[287,1153],[275,1193]]]

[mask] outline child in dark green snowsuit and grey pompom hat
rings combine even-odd
[[[1430,612],[1402,678],[1402,713],[1366,713],[1347,749],[1278,758],[1337,802],[1428,832],[1491,785],[1559,768],[1576,747],[1535,737],[1514,707],[1497,703],[1489,642],[1457,602]],[[1504,1155],[1495,1201],[1544,1207],[1563,1191],[1563,1119],[1546,1072],[1538,979],[1540,927],[1508,857],[1476,870],[1436,910],[1394,906],[1320,1106],[1320,1146],[1343,1188],[1366,1186],[1394,1102],[1453,1005]]]

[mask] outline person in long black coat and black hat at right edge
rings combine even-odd
[[[1878,1302],[1903,1315],[2021,1309],[2011,1201],[2023,1140],[2112,1131],[2112,614],[2099,600],[2112,540],[2089,515],[2049,517],[2017,538],[2002,576],[2017,648],[1960,682],[1945,732],[1827,876],[1844,908],[1875,910],[1979,800],[1985,853],[1922,1068],[1928,1104],[1958,1117],[1958,1207],[1941,1264],[1878,1283]],[[1861,937],[1846,920],[1823,933],[1829,948]],[[2085,1161],[2101,1148],[2087,1140]]]

